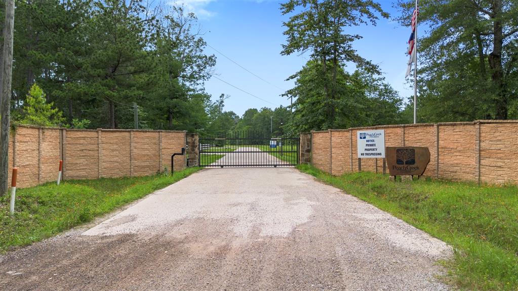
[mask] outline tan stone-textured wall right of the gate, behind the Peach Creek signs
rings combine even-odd
[[[475,121],[330,129],[312,132],[312,164],[333,175],[358,171],[358,130],[384,129],[385,146],[430,150],[425,176],[482,183],[518,183],[518,121]],[[386,169],[386,168],[385,168]],[[362,171],[383,172],[382,158]]]

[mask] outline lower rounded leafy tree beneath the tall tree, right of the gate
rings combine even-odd
[[[362,70],[350,74],[338,68],[338,98],[328,99],[323,97],[325,88],[320,81],[322,66],[319,62],[309,61],[297,73],[295,87],[286,93],[296,97],[291,120],[293,132],[401,123],[402,100],[383,78]],[[333,123],[326,119],[328,107],[336,112]]]

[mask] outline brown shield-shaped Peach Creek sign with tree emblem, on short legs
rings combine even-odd
[[[425,147],[387,147],[386,162],[391,176],[421,176],[430,162]]]

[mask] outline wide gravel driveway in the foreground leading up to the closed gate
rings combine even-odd
[[[217,168],[0,257],[0,290],[447,290],[450,254],[296,169]]]

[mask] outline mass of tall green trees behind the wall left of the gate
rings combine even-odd
[[[213,55],[192,13],[145,0],[20,0],[11,107],[37,83],[71,124],[204,128]]]

